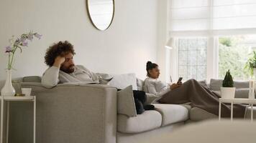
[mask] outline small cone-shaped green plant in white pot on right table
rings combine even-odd
[[[230,71],[227,71],[221,87],[221,98],[234,99],[234,82]]]

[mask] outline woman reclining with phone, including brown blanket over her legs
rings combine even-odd
[[[178,82],[166,86],[158,80],[160,70],[158,65],[147,61],[147,79],[145,79],[144,91],[155,94],[161,98],[157,101],[162,104],[183,104],[191,102],[192,107],[198,107],[212,114],[219,114],[219,95],[203,87],[195,79],[190,79],[184,84]],[[234,104],[234,117],[244,117],[245,107]],[[221,117],[230,117],[230,106],[222,104]]]

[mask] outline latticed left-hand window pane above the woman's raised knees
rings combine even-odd
[[[206,38],[178,39],[178,76],[187,79],[206,79]]]

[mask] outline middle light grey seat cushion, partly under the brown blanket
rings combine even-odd
[[[183,122],[188,119],[188,109],[178,104],[154,104],[155,110],[162,114],[162,126]]]

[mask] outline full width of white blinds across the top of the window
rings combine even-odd
[[[170,0],[170,31],[256,28],[255,0]]]

